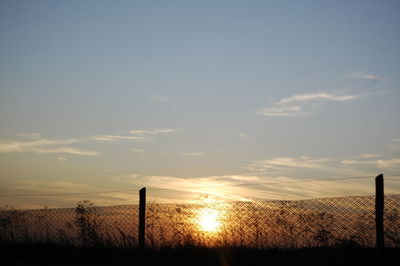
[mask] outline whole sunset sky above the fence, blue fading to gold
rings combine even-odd
[[[398,193],[399,26],[387,0],[3,0],[0,205]]]

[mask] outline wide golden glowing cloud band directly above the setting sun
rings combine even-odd
[[[175,177],[149,175],[115,176],[114,181],[136,185],[162,188],[156,195],[157,201],[171,202],[196,201],[201,195],[222,200],[252,199],[304,199],[326,197],[327,195],[359,195],[369,191],[370,184],[365,180],[326,180],[308,182],[310,179],[291,178],[288,176],[259,175],[222,175],[204,177]],[[302,182],[306,181],[306,182]],[[177,193],[177,191],[179,191]]]

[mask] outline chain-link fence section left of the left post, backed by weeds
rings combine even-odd
[[[133,247],[137,243],[138,205],[0,211],[3,243]]]

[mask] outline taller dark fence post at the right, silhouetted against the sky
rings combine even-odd
[[[383,235],[383,210],[384,210],[384,192],[383,192],[383,174],[375,177],[375,225],[376,225],[376,248],[381,256],[385,248],[385,239]]]

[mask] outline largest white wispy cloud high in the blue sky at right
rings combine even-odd
[[[260,108],[256,113],[265,116],[301,117],[311,114],[310,111],[304,111],[306,104],[310,102],[346,102],[359,97],[360,95],[330,92],[295,94],[283,98],[268,107]]]

